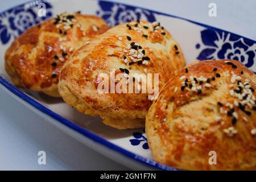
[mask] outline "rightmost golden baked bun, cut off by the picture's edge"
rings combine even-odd
[[[235,60],[183,68],[146,117],[154,159],[181,169],[256,169],[255,81]]]

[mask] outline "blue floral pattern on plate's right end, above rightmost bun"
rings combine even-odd
[[[201,31],[203,49],[197,59],[234,59],[241,61],[247,68],[254,65],[256,44],[246,38],[225,31],[205,29]],[[200,44],[196,44],[199,49]]]

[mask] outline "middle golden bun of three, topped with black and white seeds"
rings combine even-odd
[[[69,58],[60,73],[59,93],[81,113],[100,115],[106,125],[117,129],[144,127],[152,98],[148,99],[148,90],[142,92],[141,76],[131,75],[159,74],[160,88],[184,64],[179,45],[158,22],[137,20],[119,24]],[[134,84],[132,93],[98,92],[98,86],[105,79],[99,76],[105,74],[111,80],[112,72],[116,76],[121,74],[121,80],[126,83],[138,81],[139,85]],[[119,82],[115,81],[116,89]],[[107,91],[110,85],[106,86]]]

